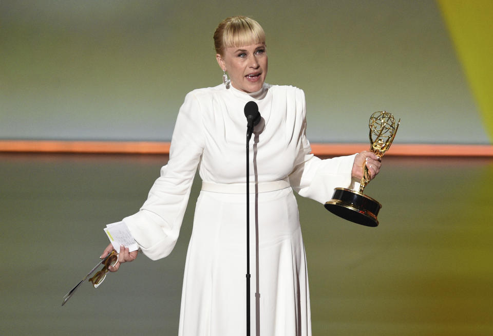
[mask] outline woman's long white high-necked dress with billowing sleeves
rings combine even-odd
[[[301,89],[264,84],[245,94],[219,85],[189,92],[167,165],[141,210],[124,221],[145,255],[162,258],[175,246],[197,166],[203,181],[245,183],[243,107],[252,100],[262,121],[250,142],[250,182],[289,177],[292,188],[250,196],[251,334],[309,336],[307,266],[293,190],[326,202],[335,187],[350,185],[354,156],[320,160],[310,154]],[[245,194],[200,192],[185,264],[180,336],[246,334],[245,200]]]

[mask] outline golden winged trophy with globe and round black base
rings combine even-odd
[[[370,151],[382,157],[394,140],[401,119],[395,123],[391,113],[378,111],[370,117]],[[373,139],[375,136],[375,139]],[[363,194],[363,190],[371,179],[367,166],[364,166],[363,178],[359,191],[345,188],[335,188],[332,199],[325,203],[325,208],[333,214],[346,220],[368,227],[378,226],[376,216],[382,204]]]

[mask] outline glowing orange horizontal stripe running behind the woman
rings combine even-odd
[[[312,143],[318,156],[339,156],[368,150],[368,143]],[[0,152],[168,154],[169,142],[158,141],[0,141]],[[392,144],[386,156],[493,157],[493,145]]]

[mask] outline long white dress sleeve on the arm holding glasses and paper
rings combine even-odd
[[[150,259],[163,258],[175,247],[203,146],[200,104],[190,92],[177,117],[168,163],[140,211],[123,219]]]

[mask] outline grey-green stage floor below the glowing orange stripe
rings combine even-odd
[[[166,159],[0,154],[0,334],[177,334],[197,180],[169,257],[140,255],[61,307]],[[313,334],[493,334],[493,160],[384,163],[365,190],[383,204],[377,228],[299,199]]]

